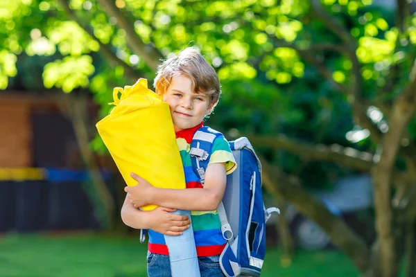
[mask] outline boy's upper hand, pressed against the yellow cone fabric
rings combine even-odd
[[[130,173],[130,176],[138,182],[136,186],[126,186],[124,188],[124,191],[128,193],[130,203],[136,208],[147,204],[153,204],[150,202],[150,195],[153,186],[150,185],[148,181],[133,172]]]

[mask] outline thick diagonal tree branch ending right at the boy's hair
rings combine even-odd
[[[107,13],[117,19],[117,26],[125,30],[127,37],[127,44],[132,51],[139,55],[152,71],[157,70],[159,60],[163,58],[162,53],[153,44],[145,44],[143,40],[137,35],[135,26],[128,20],[123,12],[116,7],[112,0],[98,0],[98,3],[107,11]]]

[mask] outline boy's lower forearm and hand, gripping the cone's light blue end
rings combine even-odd
[[[140,211],[130,203],[128,195],[121,208],[121,220],[133,229],[152,229],[164,235],[182,235],[191,223],[187,216],[175,215],[173,208],[157,207],[153,211]]]

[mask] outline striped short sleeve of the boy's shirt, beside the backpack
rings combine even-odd
[[[227,175],[231,174],[237,168],[236,160],[232,154],[227,139],[224,136],[218,136],[212,145],[211,158],[209,163],[225,163]]]

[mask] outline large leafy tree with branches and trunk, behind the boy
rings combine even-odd
[[[40,55],[46,88],[86,87],[103,116],[112,87],[151,80],[159,59],[196,45],[223,85],[211,125],[267,148],[270,192],[320,224],[364,275],[397,276],[403,230],[416,222],[416,17],[406,0],[394,16],[371,3],[20,0],[0,14],[0,87],[13,82],[21,57]],[[311,161],[329,162],[318,166],[324,177],[372,175],[372,249],[299,185]],[[281,170],[267,170],[269,162]]]

